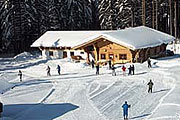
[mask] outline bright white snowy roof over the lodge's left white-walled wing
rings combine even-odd
[[[87,38],[109,31],[47,31],[31,47],[73,47]]]

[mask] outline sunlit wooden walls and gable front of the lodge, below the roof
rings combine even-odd
[[[166,50],[166,45],[155,46],[151,48],[143,48],[137,50],[131,50],[130,48],[111,42],[110,40],[100,36],[94,40],[91,40],[83,45],[76,47],[75,49],[84,49],[95,59],[96,62],[112,61],[116,63],[128,63],[128,62],[144,62],[149,57],[155,57],[159,53]],[[90,61],[87,58],[88,62]]]

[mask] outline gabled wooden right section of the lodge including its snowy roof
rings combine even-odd
[[[98,62],[144,62],[166,51],[167,44],[173,40],[171,35],[140,26],[92,36],[73,49],[84,49]]]

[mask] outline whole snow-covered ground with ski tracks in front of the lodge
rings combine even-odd
[[[131,105],[129,120],[180,120],[177,55],[152,59],[152,68],[147,62],[135,63],[135,75],[130,76],[123,76],[120,64],[117,76],[112,76],[108,66],[100,67],[100,75],[95,75],[95,69],[84,62],[27,56],[0,59],[2,120],[123,120],[125,101]],[[47,65],[51,76],[47,76]],[[153,93],[147,93],[150,79]]]

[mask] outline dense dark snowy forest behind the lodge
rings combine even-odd
[[[145,25],[180,37],[179,0],[0,0],[0,53],[18,54],[46,31]]]

